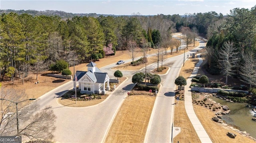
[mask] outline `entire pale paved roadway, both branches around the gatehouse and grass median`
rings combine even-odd
[[[204,47],[203,44],[200,42],[197,49]],[[184,48],[184,45],[182,47]],[[187,52],[185,55],[195,53],[197,49]],[[183,56],[176,56],[163,62],[164,66],[170,67],[170,71],[161,77],[162,88],[156,98],[144,142],[171,142],[174,80],[183,64]],[[102,67],[101,71],[108,72],[110,78],[114,78],[114,71],[110,70],[114,66],[116,64],[107,65]],[[150,71],[155,67],[156,64],[149,65],[147,70]],[[40,110],[50,106],[57,116],[54,140],[59,143],[100,143],[104,141],[112,119],[126,98],[127,92],[134,86],[131,77],[136,72],[138,71],[122,71],[128,80],[120,84],[104,102],[95,106],[72,108],[57,103],[60,96],[73,88],[73,81],[38,98],[36,102],[40,105]]]

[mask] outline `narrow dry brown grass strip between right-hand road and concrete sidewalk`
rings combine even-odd
[[[185,110],[184,101],[175,101],[174,110],[174,126],[180,127],[180,133],[174,137],[174,143],[200,143],[199,137],[196,135],[196,131],[190,122]]]

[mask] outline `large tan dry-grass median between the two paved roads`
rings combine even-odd
[[[106,143],[142,143],[155,96],[129,96],[114,119]]]

